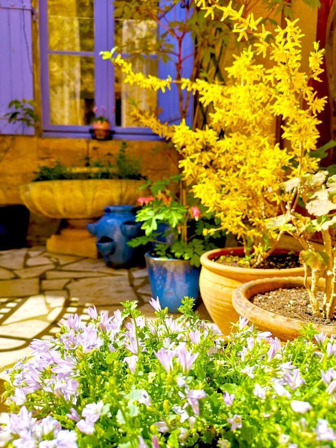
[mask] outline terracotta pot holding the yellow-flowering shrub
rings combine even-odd
[[[276,253],[286,253],[278,250]],[[237,322],[239,316],[234,311],[232,292],[242,283],[259,278],[303,276],[303,267],[290,269],[253,269],[238,266],[226,266],[212,261],[221,255],[233,254],[243,256],[242,247],[215,249],[201,256],[202,270],[200,275],[200,291],[203,302],[224,335],[230,331],[231,323]]]

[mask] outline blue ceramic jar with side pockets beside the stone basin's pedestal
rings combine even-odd
[[[135,222],[134,207],[109,206],[104,210],[104,216],[97,223],[87,224],[89,232],[97,237],[97,249],[104,261],[115,268],[141,264],[141,252],[127,244],[138,236],[141,227],[141,223]]]

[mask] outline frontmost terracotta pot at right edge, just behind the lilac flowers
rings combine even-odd
[[[255,294],[262,294],[279,288],[295,288],[297,286],[303,286],[303,277],[254,280],[241,285],[233,292],[232,304],[240,316],[249,319],[260,331],[272,332],[273,336],[277,336],[282,340],[293,340],[297,336],[300,336],[301,327],[302,325],[307,325],[307,322],[263,310],[253,305],[249,299]],[[336,335],[336,326],[313,325],[317,331],[322,331],[328,336],[332,334]]]

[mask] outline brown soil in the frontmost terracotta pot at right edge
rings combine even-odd
[[[320,302],[322,301],[323,292],[318,293]],[[322,317],[312,314],[312,307],[309,302],[309,296],[306,288],[279,288],[261,294],[255,294],[250,301],[272,313],[281,316],[300,319],[304,322],[312,322],[313,324],[336,326],[336,319],[323,319]]]

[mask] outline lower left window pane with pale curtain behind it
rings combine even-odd
[[[51,124],[87,125],[95,104],[93,57],[49,55]]]

